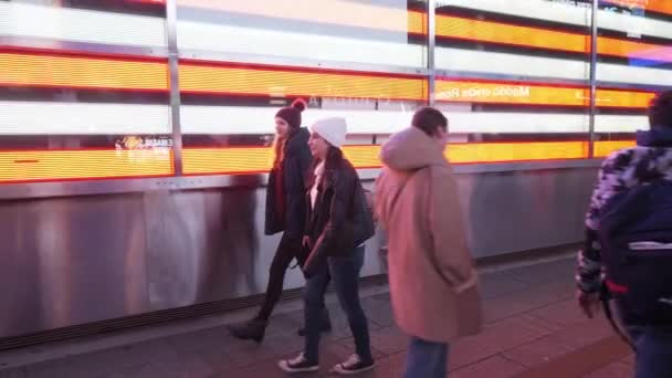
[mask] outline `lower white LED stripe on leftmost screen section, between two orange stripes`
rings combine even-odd
[[[169,134],[167,105],[0,102],[0,135]]]

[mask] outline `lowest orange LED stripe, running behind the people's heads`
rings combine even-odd
[[[595,156],[605,157],[631,140],[602,140]],[[587,158],[587,141],[452,144],[453,164],[504,162]],[[380,146],[346,146],[344,154],[357,168],[380,167]],[[267,171],[272,150],[250,148],[185,148],[186,175]],[[154,150],[36,150],[0,151],[0,182],[56,181],[124,177],[172,176],[172,156]]]

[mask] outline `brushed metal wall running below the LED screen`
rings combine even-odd
[[[474,256],[579,241],[595,172],[459,174]],[[279,237],[263,235],[263,175],[240,180],[0,202],[0,337],[263,293]],[[386,271],[382,242],[363,275]],[[285,288],[303,284],[287,272]]]

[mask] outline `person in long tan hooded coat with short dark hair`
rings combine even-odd
[[[448,119],[424,107],[380,153],[385,168],[375,206],[388,232],[395,318],[411,337],[406,378],[444,378],[449,344],[482,325],[477,274],[443,155],[447,141]]]

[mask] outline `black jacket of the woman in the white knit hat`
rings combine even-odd
[[[311,207],[311,187],[305,197],[305,234],[311,242],[304,245],[303,255],[298,259],[306,277],[313,276],[326,258],[350,253],[375,233],[371,209],[359,176],[347,159],[324,172],[314,209]]]

